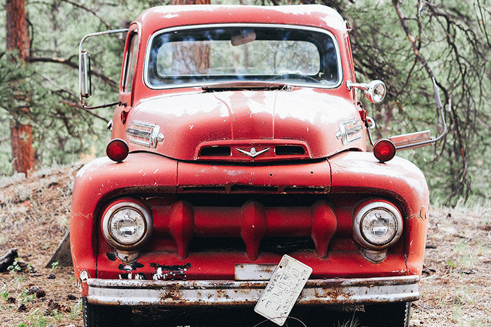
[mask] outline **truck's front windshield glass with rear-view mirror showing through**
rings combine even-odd
[[[146,67],[152,88],[232,81],[333,87],[341,75],[331,34],[284,26],[163,30],[151,39]]]

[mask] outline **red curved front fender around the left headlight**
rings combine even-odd
[[[95,276],[98,212],[118,194],[175,193],[177,162],[153,153],[131,153],[124,162],[98,158],[80,169],[71,203],[70,241],[75,277]]]

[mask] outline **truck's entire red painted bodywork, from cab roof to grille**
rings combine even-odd
[[[342,84],[217,93],[145,86],[143,59],[152,33],[242,22],[328,30],[340,46]],[[355,93],[345,86],[355,81],[346,26],[337,13],[323,6],[165,6],[144,12],[136,26],[140,50],[133,92],[120,93],[127,105],[115,109],[112,138],[128,141],[126,129],[140,121],[157,124],[164,140],[155,149],[129,143],[123,162],[99,158],[77,174],[71,207],[77,278],[86,270],[98,278],[118,279],[131,272],[151,279],[155,265],[189,263],[181,272],[188,280],[232,280],[235,264],[278,263],[283,253],[310,265],[313,279],[420,275],[427,232],[420,212],[429,205],[423,174],[402,158],[378,162],[365,152],[364,133],[349,144],[336,137],[340,123],[362,124]],[[304,153],[288,157],[268,150],[252,158],[237,150],[287,144]],[[213,146],[229,146],[230,158],[200,157],[202,147]],[[114,249],[100,230],[102,212],[122,197],[140,198],[154,220],[151,241],[137,259],[142,267],[129,270],[109,259],[113,256],[107,252]],[[365,259],[353,240],[353,210],[369,198],[389,201],[403,217],[402,237],[382,263]],[[276,238],[301,238],[311,245],[277,252],[263,246]],[[196,241],[203,239],[209,240],[207,248],[196,249]],[[220,239],[231,241],[234,250],[213,249]]]

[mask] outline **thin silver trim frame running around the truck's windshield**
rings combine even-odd
[[[333,41],[333,46],[335,48],[335,54],[336,54],[336,62],[337,62],[337,82],[335,84],[322,84],[322,83],[311,83],[311,82],[297,82],[297,81],[289,81],[289,80],[277,80],[277,82],[284,82],[284,84],[288,84],[291,86],[307,86],[311,88],[337,88],[342,84],[343,81],[343,67],[342,67],[342,60],[341,60],[341,54],[340,54],[340,47],[339,44],[337,43],[336,37],[333,35],[333,33],[329,32],[328,30],[324,30],[323,28],[316,28],[316,27],[311,27],[311,26],[300,26],[300,25],[290,25],[290,24],[237,24],[237,23],[230,23],[230,24],[199,24],[199,25],[190,25],[190,26],[177,26],[177,27],[172,27],[172,28],[164,28],[162,30],[158,30],[157,32],[154,32],[153,35],[149,38],[149,41],[147,42],[147,49],[145,51],[145,63],[143,66],[143,82],[148,88],[151,88],[153,90],[163,90],[163,89],[169,89],[169,88],[185,88],[185,87],[201,87],[205,85],[210,85],[210,84],[217,84],[220,81],[217,80],[203,80],[199,82],[189,82],[189,83],[183,83],[183,84],[165,84],[165,85],[154,85],[151,84],[149,81],[149,60],[150,60],[150,53],[151,53],[151,46],[154,43],[154,39],[156,37],[159,37],[162,34],[169,33],[169,32],[175,32],[178,30],[197,30],[197,29],[205,29],[205,28],[285,28],[285,29],[295,29],[295,30],[307,30],[307,31],[313,31],[313,32],[320,32],[328,37],[331,38]],[[222,81],[222,82],[230,82],[230,81]],[[264,81],[256,81],[258,83],[260,82],[268,82],[267,80]]]

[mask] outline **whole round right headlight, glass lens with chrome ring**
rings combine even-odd
[[[353,229],[364,247],[380,250],[395,243],[402,234],[402,216],[387,202],[364,205],[355,215]]]

